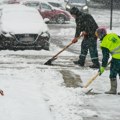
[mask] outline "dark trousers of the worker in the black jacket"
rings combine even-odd
[[[96,37],[84,37],[81,43],[81,53],[79,56],[80,64],[85,64],[88,51],[90,53],[93,64],[99,65]]]

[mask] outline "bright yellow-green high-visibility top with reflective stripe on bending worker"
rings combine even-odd
[[[112,58],[120,59],[120,38],[117,34],[107,34],[103,38],[100,47],[107,48],[110,51]]]

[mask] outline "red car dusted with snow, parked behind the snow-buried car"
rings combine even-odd
[[[70,21],[71,18],[68,11],[53,7],[48,2],[41,0],[25,0],[21,4],[38,9],[43,19],[48,18],[49,22],[63,24]]]

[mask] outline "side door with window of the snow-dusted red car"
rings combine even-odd
[[[54,10],[52,10],[52,7],[46,3],[41,3],[40,13],[43,18],[51,19],[54,16]]]

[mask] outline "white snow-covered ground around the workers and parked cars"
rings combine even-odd
[[[73,35],[73,30],[67,29],[66,34]],[[112,31],[120,34],[120,27]],[[104,94],[110,87],[109,70],[89,86],[97,94],[86,95],[81,87],[65,86],[62,68],[44,65],[59,50],[51,44],[50,51],[0,51],[0,89],[4,91],[0,96],[0,120],[120,120],[120,97]],[[78,54],[64,51],[61,56]],[[65,69],[80,75],[83,84],[97,73],[79,67]]]

